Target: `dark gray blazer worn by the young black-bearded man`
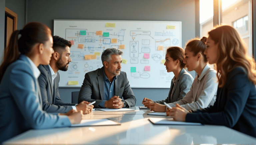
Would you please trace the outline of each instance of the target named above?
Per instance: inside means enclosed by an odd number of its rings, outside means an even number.
[[[38,77],[40,90],[42,94],[43,110],[48,113],[66,113],[73,109],[76,104],[62,102],[59,94],[60,76],[57,72],[57,77],[54,79],[52,86],[52,74],[48,65],[39,65],[38,69],[41,74]]]

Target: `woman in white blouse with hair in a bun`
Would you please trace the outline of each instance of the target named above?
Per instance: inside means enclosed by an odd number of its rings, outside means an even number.
[[[184,63],[188,71],[195,71],[198,75],[188,93],[181,100],[169,103],[171,107],[179,104],[187,110],[206,108],[214,104],[216,100],[218,82],[216,71],[208,65],[204,50],[206,49],[206,37],[201,40],[198,38],[187,42],[185,48]],[[155,112],[159,111],[152,103],[150,109]]]

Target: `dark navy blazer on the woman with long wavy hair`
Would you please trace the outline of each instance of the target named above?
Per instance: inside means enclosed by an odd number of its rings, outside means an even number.
[[[246,69],[234,68],[218,88],[214,105],[188,113],[186,122],[224,125],[256,137],[256,89]]]

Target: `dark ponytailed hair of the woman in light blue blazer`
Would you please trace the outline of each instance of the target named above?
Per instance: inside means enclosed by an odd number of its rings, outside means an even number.
[[[18,35],[21,37],[18,39]],[[48,41],[51,30],[48,26],[39,22],[30,22],[22,30],[12,33],[8,47],[5,49],[3,63],[0,66],[0,82],[7,67],[19,58],[20,54],[29,54],[36,43],[45,44]]]

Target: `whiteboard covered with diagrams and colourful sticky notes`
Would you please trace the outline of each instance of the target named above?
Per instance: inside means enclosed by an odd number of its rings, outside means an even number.
[[[121,71],[132,88],[170,88],[174,74],[163,63],[169,46],[181,47],[181,22],[55,19],[53,34],[72,42],[59,87],[81,87],[85,73],[103,66],[102,52],[115,47],[124,53]]]

